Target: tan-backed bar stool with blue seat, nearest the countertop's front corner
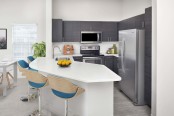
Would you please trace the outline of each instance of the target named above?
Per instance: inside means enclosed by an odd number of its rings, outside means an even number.
[[[82,94],[85,90],[64,78],[49,76],[48,82],[53,94],[65,99],[65,116],[68,116],[68,100]]]

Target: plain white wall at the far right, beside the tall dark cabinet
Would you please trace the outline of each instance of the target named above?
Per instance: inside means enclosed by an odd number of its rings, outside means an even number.
[[[153,11],[157,14],[157,20],[154,18],[154,22],[157,22],[154,28],[157,35],[153,38],[153,48],[157,53],[156,61],[153,60],[153,65],[156,64],[156,69],[153,69],[153,73],[156,73],[153,78],[156,78],[157,83],[156,116],[174,116],[174,1],[154,1],[157,3],[157,7],[154,5],[157,11]]]

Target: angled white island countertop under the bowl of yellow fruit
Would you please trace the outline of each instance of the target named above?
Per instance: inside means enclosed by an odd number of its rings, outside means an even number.
[[[73,60],[72,56],[69,56]],[[62,68],[49,58],[37,58],[30,67],[40,72],[85,83],[120,81],[121,77],[104,65],[73,61],[69,67]]]

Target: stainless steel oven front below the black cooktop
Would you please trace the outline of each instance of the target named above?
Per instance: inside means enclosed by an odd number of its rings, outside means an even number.
[[[83,62],[93,63],[93,64],[102,64],[103,63],[101,57],[83,57]]]

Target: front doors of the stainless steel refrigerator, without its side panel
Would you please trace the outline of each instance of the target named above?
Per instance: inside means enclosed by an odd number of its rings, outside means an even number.
[[[123,80],[120,82],[122,91],[134,102],[135,91],[135,68],[136,68],[136,30],[122,31],[119,33],[121,45],[121,62]],[[120,71],[120,70],[119,70]]]

